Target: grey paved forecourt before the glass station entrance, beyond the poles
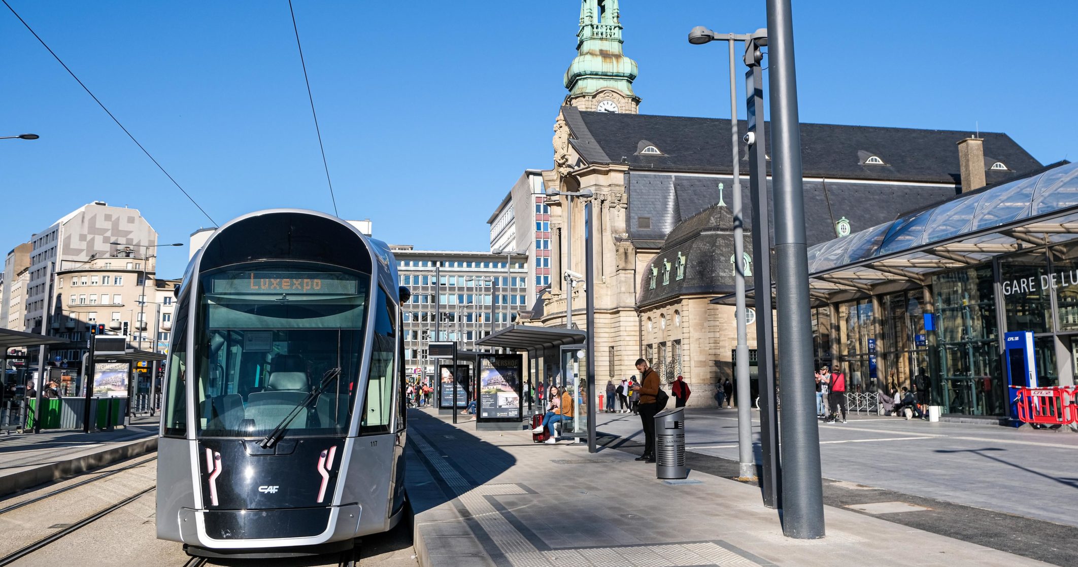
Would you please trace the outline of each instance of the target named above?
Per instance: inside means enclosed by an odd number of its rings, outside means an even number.
[[[736,410],[689,409],[686,415],[688,451],[737,459]],[[644,439],[633,414],[600,413],[596,426]],[[1076,507],[1059,506],[1078,489],[1078,434],[852,415],[846,424],[821,424],[819,439],[827,479],[1078,527]]]

